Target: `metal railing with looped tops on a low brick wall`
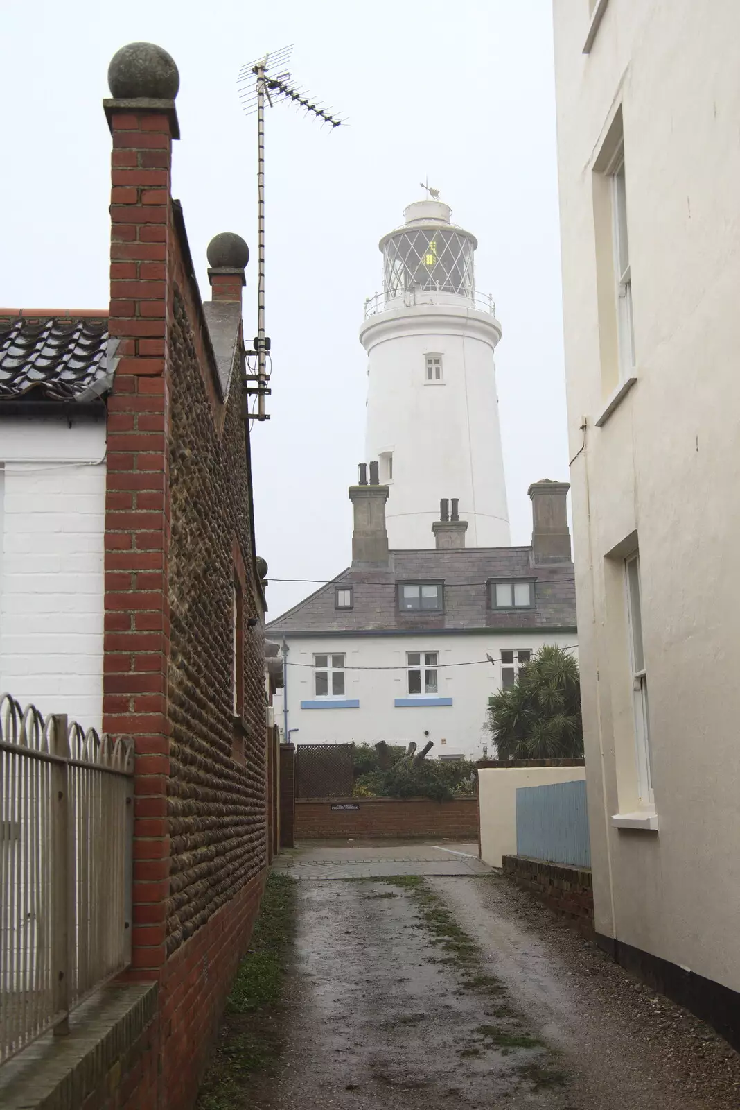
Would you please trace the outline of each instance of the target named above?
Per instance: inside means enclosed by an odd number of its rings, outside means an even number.
[[[134,747],[0,697],[0,1063],[131,962]]]

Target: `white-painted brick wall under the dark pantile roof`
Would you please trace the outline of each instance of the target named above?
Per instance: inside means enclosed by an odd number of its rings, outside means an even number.
[[[3,420],[0,689],[101,727],[105,424]],[[92,465],[91,465],[92,464]]]

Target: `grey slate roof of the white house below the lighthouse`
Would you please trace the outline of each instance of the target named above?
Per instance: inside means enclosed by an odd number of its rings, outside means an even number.
[[[533,608],[492,609],[489,582],[534,578]],[[397,584],[443,582],[444,609],[401,613]],[[337,609],[337,586],[351,585],[353,607]],[[316,635],[336,633],[403,633],[415,629],[465,632],[481,628],[575,629],[573,563],[535,565],[532,547],[465,547],[452,551],[394,551],[388,569],[348,567],[332,582],[267,625],[267,633]]]

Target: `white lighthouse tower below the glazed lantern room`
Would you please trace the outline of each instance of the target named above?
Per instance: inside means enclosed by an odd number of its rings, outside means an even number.
[[[434,546],[442,497],[460,500],[469,547],[511,543],[494,366],[500,331],[482,315],[424,305],[381,313],[362,330],[367,457],[393,454],[391,548]],[[440,382],[426,380],[428,354],[442,357]]]

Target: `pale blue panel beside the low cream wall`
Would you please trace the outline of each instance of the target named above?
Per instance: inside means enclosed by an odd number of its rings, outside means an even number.
[[[590,867],[585,779],[518,788],[516,855]]]

